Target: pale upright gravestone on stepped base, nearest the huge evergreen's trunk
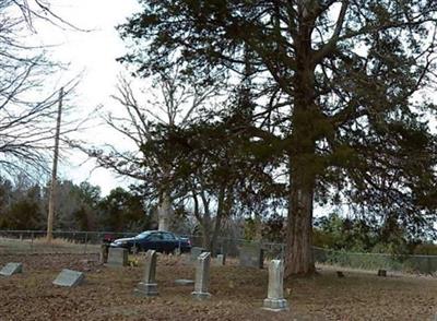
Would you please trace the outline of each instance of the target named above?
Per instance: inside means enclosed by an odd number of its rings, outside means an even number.
[[[272,260],[269,264],[269,288],[263,309],[269,311],[286,311],[288,302],[284,299],[284,263]]]

